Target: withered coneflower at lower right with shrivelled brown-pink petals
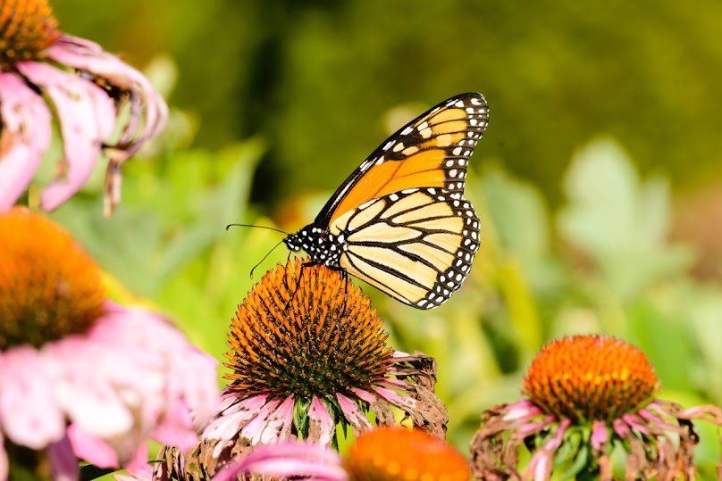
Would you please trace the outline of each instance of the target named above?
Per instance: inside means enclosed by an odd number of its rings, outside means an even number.
[[[524,379],[525,400],[485,411],[472,441],[477,479],[611,481],[693,479],[693,419],[722,425],[714,406],[689,410],[655,399],[659,380],[642,351],[606,336],[547,344]],[[531,459],[520,469],[519,452]]]

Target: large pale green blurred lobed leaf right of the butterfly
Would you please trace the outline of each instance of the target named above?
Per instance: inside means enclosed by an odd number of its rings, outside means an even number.
[[[615,141],[600,138],[576,153],[565,191],[560,234],[592,258],[617,294],[629,297],[691,265],[688,246],[667,245],[667,181],[642,182]]]

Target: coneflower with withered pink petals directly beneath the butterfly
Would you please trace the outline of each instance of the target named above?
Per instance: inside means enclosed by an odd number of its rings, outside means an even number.
[[[166,450],[157,478],[212,476],[256,444],[298,438],[335,445],[338,424],[356,435],[372,427],[369,410],[378,425],[393,424],[396,407],[409,424],[445,435],[435,361],[390,349],[369,299],[339,272],[301,270],[298,260],[279,265],[239,305],[226,354],[232,382],[197,449]]]

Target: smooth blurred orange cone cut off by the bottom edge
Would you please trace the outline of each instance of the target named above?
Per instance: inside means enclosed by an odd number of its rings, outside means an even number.
[[[350,481],[466,481],[469,467],[449,444],[419,429],[379,427],[358,437],[344,461]]]

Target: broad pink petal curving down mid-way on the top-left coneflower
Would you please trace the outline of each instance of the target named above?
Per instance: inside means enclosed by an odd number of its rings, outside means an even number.
[[[41,195],[43,209],[52,211],[88,181],[101,147],[115,127],[115,107],[105,91],[76,75],[46,63],[19,62],[17,69],[52,99],[60,119],[67,171]]]

